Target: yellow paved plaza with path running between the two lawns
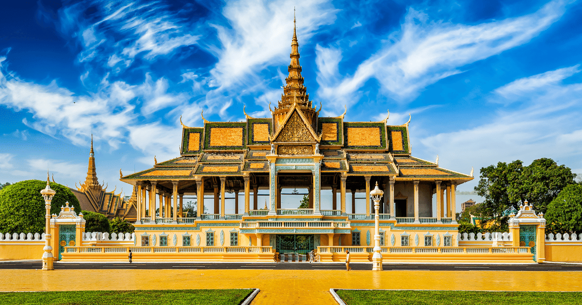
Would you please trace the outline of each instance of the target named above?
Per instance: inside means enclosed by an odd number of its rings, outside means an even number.
[[[0,290],[260,288],[253,304],[336,304],[329,288],[582,291],[582,272],[0,270]]]

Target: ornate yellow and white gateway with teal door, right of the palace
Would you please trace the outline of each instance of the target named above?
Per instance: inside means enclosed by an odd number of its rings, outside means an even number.
[[[544,213],[536,214],[533,204],[520,204],[519,211],[509,216],[509,232],[514,247],[530,247],[534,261],[545,261],[545,218]]]

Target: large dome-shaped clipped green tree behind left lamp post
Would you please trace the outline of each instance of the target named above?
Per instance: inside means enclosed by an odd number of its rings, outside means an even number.
[[[26,180],[3,186],[0,192],[0,232],[42,233],[45,227],[45,203],[40,191],[47,181]],[[51,202],[51,214],[59,214],[61,206],[69,206],[79,213],[81,206],[73,192],[64,185],[50,182],[56,192]]]

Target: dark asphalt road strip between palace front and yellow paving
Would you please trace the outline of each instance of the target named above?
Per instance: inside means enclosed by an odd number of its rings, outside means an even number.
[[[38,269],[40,261],[6,261],[0,262],[0,269]],[[371,263],[352,263],[353,270],[371,270]],[[120,269],[263,269],[263,270],[345,270],[345,264],[339,263],[59,263],[55,270],[120,270]],[[503,271],[582,271],[582,264],[531,264],[531,265],[485,265],[485,264],[384,264],[384,270],[427,270],[427,271],[467,271],[467,270],[503,270]]]

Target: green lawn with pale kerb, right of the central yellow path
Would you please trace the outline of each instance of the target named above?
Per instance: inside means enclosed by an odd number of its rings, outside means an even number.
[[[526,283],[524,283],[527,286]],[[488,292],[444,290],[338,290],[347,305],[470,304],[531,305],[580,304],[582,292]]]

